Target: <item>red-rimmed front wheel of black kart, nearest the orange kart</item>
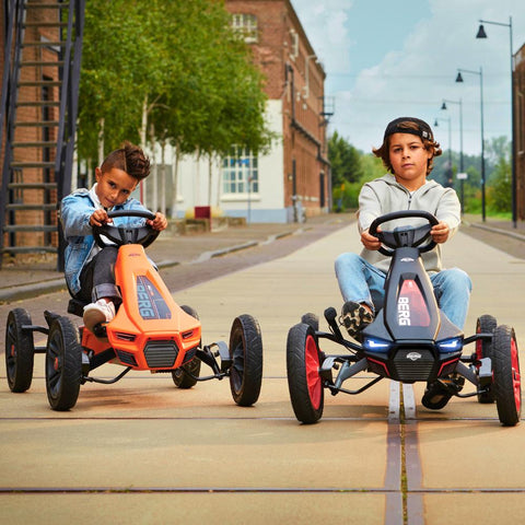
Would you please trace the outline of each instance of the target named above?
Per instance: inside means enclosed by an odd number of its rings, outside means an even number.
[[[315,332],[304,323],[288,332],[287,373],[295,417],[303,423],[315,423],[323,416],[325,392]]]

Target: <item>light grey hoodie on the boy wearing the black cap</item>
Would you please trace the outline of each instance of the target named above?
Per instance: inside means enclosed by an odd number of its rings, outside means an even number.
[[[410,194],[405,186],[396,182],[394,175],[386,174],[364,184],[361,188],[358,211],[359,232],[362,233],[368,230],[375,218],[400,210],[424,210],[432,213],[439,221],[448,224],[451,229],[448,238],[456,233],[462,221],[462,207],[454,189],[444,188],[435,180],[427,180],[423,186]],[[386,222],[381,228],[385,231],[392,231],[395,226],[401,224],[420,225],[424,223],[424,219],[407,219]],[[361,252],[361,257],[385,272],[388,270],[390,257],[366,248]],[[424,268],[429,273],[443,269],[440,244],[434,249],[423,254],[422,258]]]

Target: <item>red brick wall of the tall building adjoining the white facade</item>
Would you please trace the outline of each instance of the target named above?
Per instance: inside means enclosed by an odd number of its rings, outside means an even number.
[[[226,0],[225,5],[231,13],[257,16],[259,34],[257,43],[252,44],[254,57],[267,78],[269,98],[283,102],[284,206],[290,207],[293,202],[291,175],[295,161],[296,195],[307,214],[320,213],[320,172],[325,172],[325,206],[329,194],[329,173],[318,160],[319,153],[322,158],[327,158],[326,127],[320,125],[325,72],[312,57],[315,51],[289,0]],[[292,55],[293,33],[299,39],[296,56]],[[293,74],[287,74],[287,65],[292,68]],[[307,97],[304,96],[306,77],[310,88]],[[305,132],[292,126],[293,121]],[[316,142],[320,143],[320,150]]]

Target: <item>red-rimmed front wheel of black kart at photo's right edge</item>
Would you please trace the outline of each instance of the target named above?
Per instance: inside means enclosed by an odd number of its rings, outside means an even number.
[[[520,358],[514,329],[498,326],[493,339],[494,397],[502,424],[514,427],[522,413]]]

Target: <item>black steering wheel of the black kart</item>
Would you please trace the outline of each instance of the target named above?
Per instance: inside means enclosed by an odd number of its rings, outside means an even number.
[[[384,222],[394,221],[395,219],[409,219],[412,217],[419,217],[421,219],[427,219],[428,224],[422,226],[399,226],[394,229],[394,231],[377,231],[377,228]],[[388,246],[388,249],[385,246],[380,247],[380,253],[392,257],[394,255],[395,248],[400,247],[419,247],[424,241],[430,237],[430,231],[432,226],[439,224],[440,221],[428,211],[422,210],[402,210],[402,211],[393,211],[392,213],[386,213],[385,215],[377,217],[372,224],[370,225],[369,233],[377,237],[382,244]],[[435,246],[435,241],[431,240],[430,243],[419,248],[420,253],[430,252]]]

